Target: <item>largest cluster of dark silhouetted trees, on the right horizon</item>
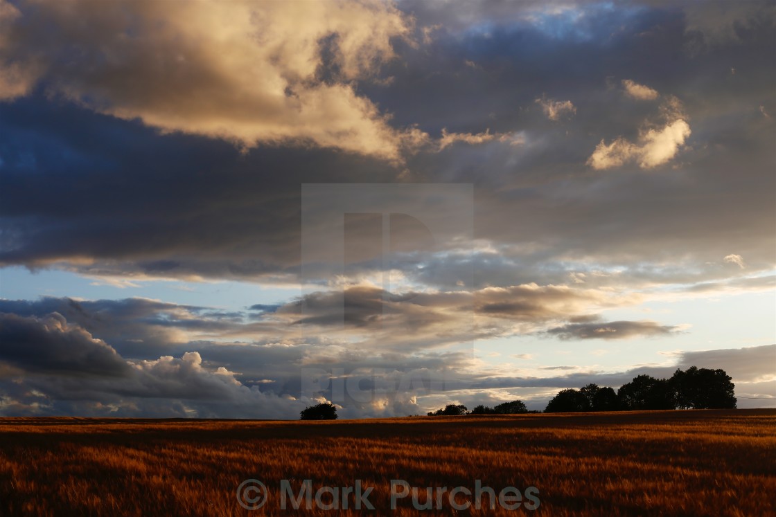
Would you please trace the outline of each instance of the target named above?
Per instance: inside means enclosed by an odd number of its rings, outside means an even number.
[[[639,375],[618,391],[598,384],[558,392],[545,412],[633,411],[639,409],[736,408],[735,384],[724,370],[677,369],[670,379]]]

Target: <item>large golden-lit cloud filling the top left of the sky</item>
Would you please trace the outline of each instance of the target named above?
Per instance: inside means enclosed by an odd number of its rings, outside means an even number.
[[[95,111],[246,148],[291,141],[398,160],[425,140],[354,88],[410,35],[386,2],[4,1],[0,26],[0,98],[39,75]]]

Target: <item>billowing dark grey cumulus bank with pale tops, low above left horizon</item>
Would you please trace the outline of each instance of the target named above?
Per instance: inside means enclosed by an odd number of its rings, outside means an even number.
[[[295,418],[308,402],[249,388],[198,352],[124,360],[57,313],[0,314],[0,393],[0,415]]]

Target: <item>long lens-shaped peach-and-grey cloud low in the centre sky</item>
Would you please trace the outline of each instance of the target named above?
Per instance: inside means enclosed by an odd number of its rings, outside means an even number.
[[[473,291],[383,291],[356,285],[318,291],[279,308],[274,316],[328,335],[360,335],[379,347],[424,350],[473,338],[531,333],[597,308],[636,302],[637,295],[565,285],[521,284]]]

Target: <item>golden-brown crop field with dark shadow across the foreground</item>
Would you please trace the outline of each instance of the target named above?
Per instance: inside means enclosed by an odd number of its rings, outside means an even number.
[[[265,505],[237,488],[262,481]],[[372,487],[376,508],[280,508],[299,495]],[[390,509],[391,480],[417,487]],[[449,493],[476,480],[522,505],[480,509]],[[479,485],[477,485],[479,486]],[[539,507],[525,490],[535,487]],[[400,488],[396,488],[397,491]],[[255,492],[251,493],[256,495]],[[695,410],[411,417],[330,422],[0,419],[0,515],[776,515],[776,411]],[[341,492],[338,499],[342,504]],[[497,499],[497,497],[496,497]],[[255,499],[254,499],[255,500]],[[320,501],[333,505],[331,493]],[[512,499],[514,501],[514,499]],[[498,501],[495,501],[498,502]],[[290,504],[290,503],[289,503]]]

